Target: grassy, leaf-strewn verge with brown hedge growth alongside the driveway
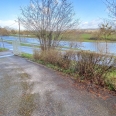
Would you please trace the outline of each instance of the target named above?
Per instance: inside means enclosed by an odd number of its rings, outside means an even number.
[[[88,54],[88,53],[87,53]],[[82,56],[87,56],[87,54],[84,53]],[[34,55],[31,54],[25,54],[23,53],[21,56],[24,58],[28,58],[34,62],[43,64],[49,68],[52,68],[54,70],[63,72],[64,74],[70,75],[72,79],[78,81],[78,82],[86,82],[89,81],[91,85],[99,85],[105,88],[108,88],[110,90],[116,91],[116,69],[111,68],[110,66],[106,65],[98,65],[97,63],[101,62],[104,64],[103,57],[89,54],[86,58],[83,60],[80,60],[79,62],[74,62],[69,60],[72,56],[70,56],[69,53],[65,54],[67,56],[61,56],[59,52],[51,51],[49,53],[42,53]],[[71,55],[73,55],[71,53]],[[78,54],[80,56],[80,54]],[[92,59],[97,59],[100,61],[93,62]],[[107,58],[106,58],[107,59]],[[92,63],[93,62],[93,63]],[[104,72],[107,70],[106,72]]]

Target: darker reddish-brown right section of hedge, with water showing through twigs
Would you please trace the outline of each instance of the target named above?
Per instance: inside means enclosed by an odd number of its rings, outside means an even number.
[[[115,64],[113,56],[80,51],[76,53],[76,57],[75,70],[80,79],[87,79],[98,85],[105,84],[105,77],[113,70]]]

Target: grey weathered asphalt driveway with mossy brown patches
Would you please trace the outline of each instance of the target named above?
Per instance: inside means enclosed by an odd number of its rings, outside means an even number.
[[[116,116],[107,100],[77,90],[57,72],[18,56],[0,58],[0,116]]]

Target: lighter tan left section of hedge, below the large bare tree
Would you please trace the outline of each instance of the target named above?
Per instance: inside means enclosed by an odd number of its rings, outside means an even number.
[[[34,50],[34,59],[42,60],[46,63],[51,63],[54,66],[58,66],[62,69],[68,69],[71,63],[72,52],[61,52],[59,50],[46,50],[46,51],[37,51]]]

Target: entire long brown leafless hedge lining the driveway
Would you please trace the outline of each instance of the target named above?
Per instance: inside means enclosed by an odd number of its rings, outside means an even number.
[[[106,81],[108,74],[115,70],[116,59],[111,55],[74,50],[61,52],[50,49],[41,52],[35,50],[34,58],[59,67],[63,72],[74,74],[79,80],[89,80],[101,86],[110,83],[108,85],[112,88],[112,80]]]

